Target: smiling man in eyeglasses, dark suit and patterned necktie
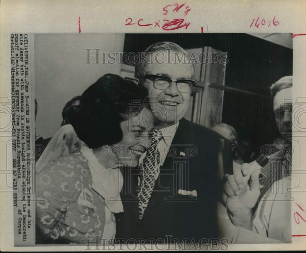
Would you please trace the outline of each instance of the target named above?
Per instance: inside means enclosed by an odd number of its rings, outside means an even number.
[[[186,51],[159,42],[145,55],[135,76],[148,90],[155,133],[138,169],[122,171],[124,212],[117,216],[116,238],[153,240],[148,243],[217,238],[222,137],[184,118],[194,83],[192,64],[178,62]],[[229,148],[228,141],[222,144]]]

